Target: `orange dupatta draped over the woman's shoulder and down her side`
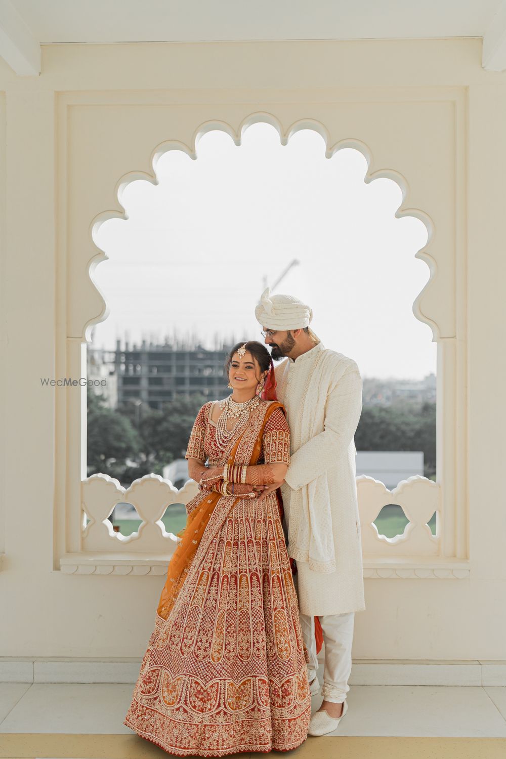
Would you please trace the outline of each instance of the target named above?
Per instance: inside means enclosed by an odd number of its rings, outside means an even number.
[[[284,409],[284,406],[279,402],[274,402],[271,403],[269,408],[266,409],[266,414],[262,420],[262,427],[256,437],[256,442],[250,458],[249,466],[256,465],[256,462],[259,460],[260,452],[262,451],[263,430],[266,426],[267,420],[276,408]],[[228,464],[235,463],[235,455],[237,453],[237,449],[246,432],[247,429],[244,430],[235,441],[234,447],[228,456]],[[181,587],[183,587],[188,572],[190,572],[190,567],[193,564],[193,559],[195,559],[196,552],[200,546],[200,541],[203,539],[207,524],[209,523],[209,519],[212,516],[212,512],[214,511],[219,499],[225,497],[226,496],[222,496],[221,493],[215,493],[213,490],[210,491],[207,498],[204,499],[203,502],[198,506],[196,506],[196,509],[194,509],[193,512],[191,512],[191,514],[188,516],[186,527],[179,533],[179,537],[181,537],[181,543],[179,543],[177,549],[174,552],[174,556],[172,556],[171,561],[168,565],[167,580],[165,581],[162,595],[160,596],[159,605],[156,609],[158,616],[162,617],[162,619],[167,619],[168,615],[171,613],[174,602],[181,591]],[[234,499],[234,502],[231,503],[231,509],[238,500],[239,498]]]

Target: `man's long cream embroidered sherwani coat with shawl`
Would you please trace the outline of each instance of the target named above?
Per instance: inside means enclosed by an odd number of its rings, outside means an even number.
[[[354,433],[362,410],[357,364],[322,343],[275,370],[291,428],[281,487],[288,554],[297,561],[300,612],[365,608]]]

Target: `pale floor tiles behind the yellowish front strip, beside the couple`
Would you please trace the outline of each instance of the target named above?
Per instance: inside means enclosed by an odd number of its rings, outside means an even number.
[[[123,718],[133,688],[3,683],[0,732],[131,734]],[[506,687],[354,685],[347,700],[335,735],[506,738]]]

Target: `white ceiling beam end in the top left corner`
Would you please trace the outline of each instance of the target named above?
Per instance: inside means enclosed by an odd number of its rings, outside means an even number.
[[[20,77],[40,74],[40,45],[10,0],[0,0],[0,55]]]

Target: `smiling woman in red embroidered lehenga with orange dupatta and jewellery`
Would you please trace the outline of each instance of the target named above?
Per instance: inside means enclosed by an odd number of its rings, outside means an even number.
[[[231,395],[200,409],[188,472],[200,493],[167,581],[124,724],[169,754],[289,751],[311,696],[275,486],[290,430],[259,342],[226,364]],[[207,461],[207,465],[206,465]]]

